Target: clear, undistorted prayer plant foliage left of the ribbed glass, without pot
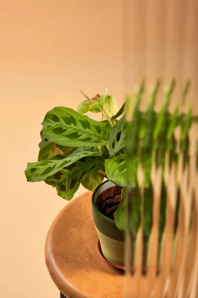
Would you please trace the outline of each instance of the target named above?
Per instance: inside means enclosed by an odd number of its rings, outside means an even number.
[[[114,117],[119,112],[115,97],[107,95],[107,90],[92,98],[81,92],[87,99],[78,105],[77,111],[55,107],[46,114],[38,161],[29,162],[25,170],[28,181],[45,181],[66,200],[72,199],[80,183],[94,190],[108,177],[108,172],[111,175],[111,164],[105,164],[109,151],[111,157],[119,157],[125,147],[124,118],[118,121]],[[101,121],[90,119],[84,115],[87,112],[101,113]],[[116,160],[112,162],[116,166]],[[124,183],[125,160],[122,164],[120,177],[112,179],[120,186]]]

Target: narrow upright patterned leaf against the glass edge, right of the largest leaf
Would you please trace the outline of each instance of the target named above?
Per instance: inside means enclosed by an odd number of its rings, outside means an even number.
[[[115,155],[126,146],[126,121],[123,116],[113,127],[109,138],[109,155]]]

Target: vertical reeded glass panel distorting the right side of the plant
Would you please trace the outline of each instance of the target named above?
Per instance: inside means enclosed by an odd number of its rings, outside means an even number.
[[[125,297],[196,298],[198,1],[123,1],[123,29]]]

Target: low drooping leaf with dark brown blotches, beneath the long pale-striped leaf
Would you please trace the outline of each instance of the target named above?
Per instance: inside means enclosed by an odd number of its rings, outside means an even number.
[[[54,186],[57,194],[69,201],[79,188],[82,179],[96,173],[102,162],[100,157],[83,157],[49,176],[45,182]]]

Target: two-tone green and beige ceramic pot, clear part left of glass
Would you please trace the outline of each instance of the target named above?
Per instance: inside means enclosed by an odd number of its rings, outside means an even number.
[[[99,195],[114,186],[113,182],[107,180],[101,183],[92,195],[92,212],[94,224],[99,236],[103,256],[110,263],[123,266],[124,264],[124,233],[116,226],[115,221],[103,215],[96,206]]]

